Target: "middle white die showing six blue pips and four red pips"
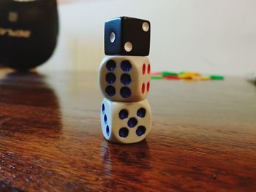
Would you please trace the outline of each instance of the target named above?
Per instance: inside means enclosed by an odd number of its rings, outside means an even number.
[[[112,101],[142,101],[148,96],[151,65],[140,56],[105,56],[99,66],[99,88]]]

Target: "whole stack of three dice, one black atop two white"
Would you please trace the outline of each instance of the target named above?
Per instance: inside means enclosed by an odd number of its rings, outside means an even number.
[[[119,17],[105,23],[105,58],[99,66],[102,133],[110,142],[135,143],[151,131],[146,97],[151,82],[148,20]]]

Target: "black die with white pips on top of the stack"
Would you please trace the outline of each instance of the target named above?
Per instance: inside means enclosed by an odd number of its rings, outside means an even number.
[[[105,55],[147,56],[151,26],[148,20],[119,17],[105,23]]]

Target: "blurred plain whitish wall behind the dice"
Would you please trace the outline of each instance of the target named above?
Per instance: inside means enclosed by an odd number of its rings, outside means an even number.
[[[154,71],[256,71],[255,0],[97,0],[61,5],[59,13],[59,46],[41,69],[97,70],[105,20],[125,15],[151,21]]]

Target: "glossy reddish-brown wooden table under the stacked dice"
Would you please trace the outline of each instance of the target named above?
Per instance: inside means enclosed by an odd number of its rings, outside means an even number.
[[[101,133],[97,73],[0,72],[0,191],[256,191],[256,87],[154,80],[151,134]]]

